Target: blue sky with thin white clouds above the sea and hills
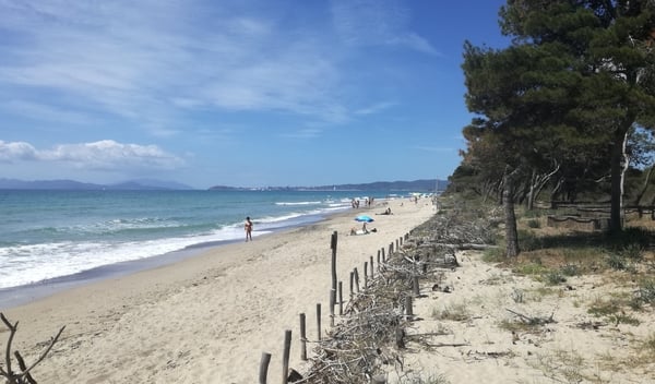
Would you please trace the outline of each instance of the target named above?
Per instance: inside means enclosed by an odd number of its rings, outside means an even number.
[[[0,178],[445,179],[503,3],[0,0]]]

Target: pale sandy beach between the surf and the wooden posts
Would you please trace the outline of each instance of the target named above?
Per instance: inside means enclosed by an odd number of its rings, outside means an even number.
[[[347,287],[354,267],[434,214],[427,199],[389,206],[393,215],[376,215],[386,208],[379,202],[264,237],[257,237],[255,224],[252,242],[4,310],[20,321],[14,349],[29,363],[66,325],[32,372],[40,383],[252,384],[264,351],[272,355],[269,382],[279,382],[286,329],[293,332],[290,367],[302,370],[299,313],[307,314],[309,339],[318,336],[317,303],[322,328],[330,326],[331,235],[338,233],[337,275]],[[362,213],[378,231],[348,236]],[[8,335],[0,332],[2,350]]]

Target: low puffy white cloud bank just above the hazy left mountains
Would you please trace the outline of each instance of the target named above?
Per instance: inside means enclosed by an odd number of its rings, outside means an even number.
[[[0,141],[0,161],[45,161],[68,164],[87,170],[176,169],[184,160],[156,145],[122,144],[112,140],[94,143],[60,144],[52,149],[38,151],[24,142]]]

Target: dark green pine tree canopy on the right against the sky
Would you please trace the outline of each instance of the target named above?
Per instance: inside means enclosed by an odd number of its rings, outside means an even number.
[[[620,230],[630,135],[655,127],[655,1],[508,0],[499,16],[509,47],[464,44],[462,166],[512,200],[608,180]]]

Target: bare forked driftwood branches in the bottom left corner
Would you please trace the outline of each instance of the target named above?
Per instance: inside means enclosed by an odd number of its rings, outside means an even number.
[[[14,358],[19,363],[19,369],[14,370],[14,368],[12,368],[13,361],[11,355],[13,338],[19,329],[19,322],[12,324],[1,312],[0,320],[2,320],[2,323],[4,323],[4,325],[9,328],[9,339],[7,340],[7,347],[4,350],[4,365],[0,364],[0,377],[4,377],[7,380],[7,384],[36,384],[36,381],[34,380],[34,377],[32,377],[31,371],[46,359],[46,357],[55,346],[55,343],[59,340],[59,337],[61,336],[61,333],[63,332],[66,326],[62,326],[59,329],[57,335],[55,335],[55,337],[50,339],[50,343],[48,344],[46,349],[31,365],[27,365],[25,363],[25,360],[17,350],[14,351]]]

